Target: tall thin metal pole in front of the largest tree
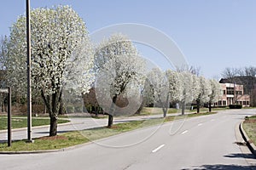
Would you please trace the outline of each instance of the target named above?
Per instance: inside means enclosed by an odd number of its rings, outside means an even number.
[[[27,142],[32,142],[30,0],[26,0],[26,57],[27,57]]]

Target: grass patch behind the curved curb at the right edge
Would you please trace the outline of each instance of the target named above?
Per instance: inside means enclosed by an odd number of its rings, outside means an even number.
[[[243,123],[243,129],[247,133],[247,136],[256,145],[256,116],[251,116]]]

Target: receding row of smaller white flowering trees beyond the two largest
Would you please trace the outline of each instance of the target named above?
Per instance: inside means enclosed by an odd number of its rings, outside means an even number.
[[[170,103],[181,104],[183,115],[185,106],[193,101],[196,102],[198,113],[201,105],[206,103],[209,111],[212,111],[212,103],[221,98],[222,88],[216,80],[198,77],[188,69],[160,71],[155,68],[148,73],[143,95],[148,103],[158,103],[164,116]]]

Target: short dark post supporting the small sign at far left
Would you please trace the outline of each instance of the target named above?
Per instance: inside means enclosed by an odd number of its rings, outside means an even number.
[[[11,146],[12,143],[12,119],[11,119],[11,105],[12,105],[12,98],[11,98],[11,88],[8,88],[8,146]]]

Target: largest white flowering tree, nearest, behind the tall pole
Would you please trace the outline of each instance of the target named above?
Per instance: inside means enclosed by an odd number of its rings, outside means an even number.
[[[49,135],[57,133],[62,89],[85,93],[90,88],[93,51],[84,21],[68,6],[31,11],[32,88],[49,111]],[[19,92],[26,87],[26,17],[11,27],[8,59],[9,83]]]

